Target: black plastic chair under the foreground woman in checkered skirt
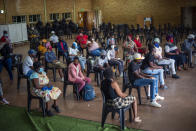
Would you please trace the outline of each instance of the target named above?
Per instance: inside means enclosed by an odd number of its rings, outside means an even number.
[[[104,88],[104,87],[103,87]],[[101,88],[102,89],[102,88]],[[102,98],[103,98],[103,107],[102,107],[102,120],[101,120],[101,127],[104,127],[105,120],[107,118],[107,115],[112,112],[112,119],[114,119],[115,113],[119,113],[120,116],[120,129],[124,130],[125,128],[125,111],[129,110],[129,122],[132,121],[132,112],[131,112],[131,105],[117,109],[113,106],[107,105],[106,97],[103,91],[101,90]]]

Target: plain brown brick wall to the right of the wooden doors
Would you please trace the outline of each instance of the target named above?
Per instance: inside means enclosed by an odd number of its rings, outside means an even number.
[[[104,22],[129,25],[147,16],[155,25],[179,24],[184,6],[196,6],[196,0],[93,0],[93,9],[102,11]]]

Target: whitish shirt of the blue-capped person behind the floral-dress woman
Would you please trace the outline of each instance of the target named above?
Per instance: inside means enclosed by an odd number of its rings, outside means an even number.
[[[23,74],[27,75],[27,73],[31,70],[30,66],[33,66],[33,60],[30,56],[26,56],[23,62]]]

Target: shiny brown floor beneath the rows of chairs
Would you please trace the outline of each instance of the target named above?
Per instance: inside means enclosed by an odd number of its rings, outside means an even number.
[[[17,47],[14,52],[26,54],[28,46]],[[126,126],[131,128],[138,128],[153,131],[195,131],[196,130],[196,68],[188,71],[178,72],[181,79],[174,80],[167,77],[166,83],[168,90],[159,90],[159,94],[166,99],[162,102],[162,108],[153,108],[148,105],[144,91],[142,90],[143,105],[138,105],[138,114],[141,116],[143,122],[141,124],[129,123],[126,121]],[[49,78],[52,81],[52,74],[49,71]],[[3,70],[1,78],[4,83],[4,95],[11,102],[11,105],[27,107],[27,91],[26,81],[21,81],[20,91],[16,89],[16,70],[14,70],[14,84],[10,85],[7,72]],[[57,77],[59,77],[57,75]],[[91,75],[93,79],[94,76]],[[58,79],[58,81],[60,81]],[[122,79],[118,80],[122,85]],[[63,89],[61,82],[56,82],[54,85]],[[99,87],[96,87],[95,82],[93,86],[96,91],[96,98],[90,102],[76,101],[72,93],[72,87],[69,86],[65,99],[61,96],[59,98],[59,106],[61,115],[71,116],[81,119],[93,120],[101,122],[102,112],[102,97]],[[137,92],[133,90],[133,95],[137,96]],[[33,101],[32,108],[38,108],[38,102]],[[126,114],[126,119],[128,115]],[[119,125],[119,120],[111,120],[108,116],[107,123]]]

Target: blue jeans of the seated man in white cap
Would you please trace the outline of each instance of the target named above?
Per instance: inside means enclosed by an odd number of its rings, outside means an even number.
[[[158,78],[156,75],[155,79],[137,79],[134,81],[133,85],[136,87],[147,86],[150,85],[150,100],[153,101],[155,99],[155,95],[158,94]]]

